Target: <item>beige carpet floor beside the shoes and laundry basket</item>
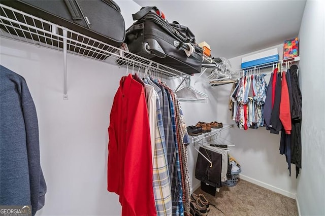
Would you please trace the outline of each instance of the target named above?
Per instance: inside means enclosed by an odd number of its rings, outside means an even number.
[[[283,196],[268,189],[239,179],[234,187],[221,187],[213,197],[200,188],[194,192],[202,193],[209,202],[224,212],[211,206],[209,216],[218,215],[299,215],[295,199]]]

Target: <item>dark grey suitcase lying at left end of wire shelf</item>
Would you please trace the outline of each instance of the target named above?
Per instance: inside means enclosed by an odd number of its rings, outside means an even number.
[[[1,0],[1,4],[42,18],[54,24],[67,27],[115,47],[119,47],[125,39],[124,19],[120,13],[120,8],[112,0]],[[42,26],[42,23],[38,22],[34,24],[31,19],[27,19],[25,22],[22,16],[15,17],[15,15],[8,10],[1,11],[1,14],[6,14],[10,18],[50,30],[47,29],[49,26]],[[56,43],[55,41],[53,42],[53,40],[51,42],[46,39],[46,37],[38,38],[34,33],[26,33],[25,31],[22,32],[13,28],[6,28],[4,25],[2,25],[2,29],[12,34],[18,34],[20,37],[26,37],[37,41],[41,40],[43,43]],[[71,35],[68,35],[68,38],[69,37],[71,37]],[[77,37],[72,39],[80,40]],[[87,43],[87,41],[83,41],[82,43]],[[62,48],[62,43],[53,45]],[[93,46],[96,46],[96,44]],[[101,48],[107,50],[107,47]],[[92,57],[96,56],[96,58],[105,58],[103,56],[98,57],[98,55],[95,55],[95,53],[91,51],[89,52],[86,50],[86,52],[84,52],[85,50],[82,48],[76,51],[74,47],[71,47],[71,51],[83,53],[84,55]],[[112,51],[112,49],[110,51]]]

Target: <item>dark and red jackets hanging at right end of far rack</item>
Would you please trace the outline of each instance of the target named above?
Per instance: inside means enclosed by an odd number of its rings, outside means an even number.
[[[296,177],[301,168],[301,92],[299,88],[298,66],[291,65],[287,71],[271,75],[265,105],[266,128],[271,133],[281,131],[280,154],[286,156],[289,175],[291,163],[296,165]],[[295,109],[294,109],[295,107]]]

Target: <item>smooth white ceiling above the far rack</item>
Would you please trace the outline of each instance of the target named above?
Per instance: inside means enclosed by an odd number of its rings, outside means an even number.
[[[198,43],[206,41],[212,56],[226,58],[297,37],[306,4],[306,0],[134,2],[158,7],[169,22],[188,26]]]

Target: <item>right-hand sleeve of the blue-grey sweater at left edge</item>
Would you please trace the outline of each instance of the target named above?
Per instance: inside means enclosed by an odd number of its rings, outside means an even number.
[[[31,213],[44,206],[46,183],[40,163],[39,127],[36,107],[25,80],[21,83],[22,111],[26,128],[26,147],[29,170]]]

